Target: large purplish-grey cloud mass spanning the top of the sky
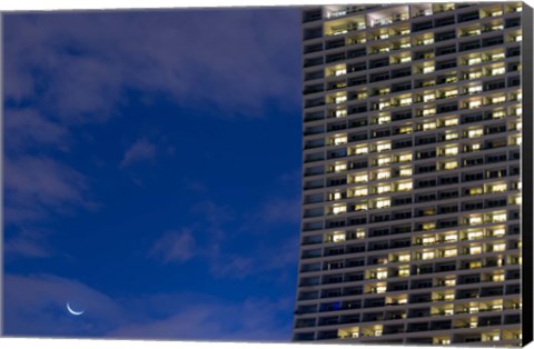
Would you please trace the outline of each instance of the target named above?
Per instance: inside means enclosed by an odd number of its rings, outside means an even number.
[[[6,99],[69,123],[107,120],[129,90],[208,116],[298,109],[298,26],[297,9],[9,14]]]

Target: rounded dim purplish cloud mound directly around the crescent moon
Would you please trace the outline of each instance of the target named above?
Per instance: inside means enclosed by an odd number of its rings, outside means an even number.
[[[100,337],[126,321],[108,296],[79,281],[51,275],[4,276],[4,335]],[[85,309],[72,318],[66,303]]]

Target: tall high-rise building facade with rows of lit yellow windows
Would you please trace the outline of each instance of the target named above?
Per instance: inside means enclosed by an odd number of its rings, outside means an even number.
[[[522,345],[525,12],[303,10],[294,340]]]

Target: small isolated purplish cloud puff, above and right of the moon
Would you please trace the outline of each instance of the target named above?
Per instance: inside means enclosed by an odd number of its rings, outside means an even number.
[[[165,263],[185,262],[196,253],[196,241],[191,230],[168,231],[164,233],[152,246],[149,256],[160,258]]]

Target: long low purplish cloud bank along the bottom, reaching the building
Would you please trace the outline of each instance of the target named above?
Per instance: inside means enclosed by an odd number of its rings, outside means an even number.
[[[4,292],[7,336],[288,341],[291,330],[289,299],[228,301],[187,292],[111,298],[52,275],[7,275]],[[86,312],[70,316],[67,301]]]

